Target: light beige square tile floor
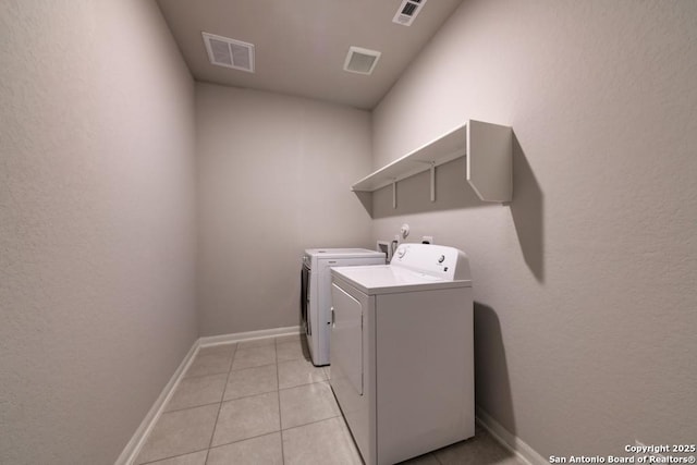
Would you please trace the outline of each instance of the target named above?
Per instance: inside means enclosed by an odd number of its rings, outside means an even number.
[[[135,464],[360,465],[328,382],[299,335],[204,347],[181,380]],[[477,428],[475,438],[412,465],[517,465]]]

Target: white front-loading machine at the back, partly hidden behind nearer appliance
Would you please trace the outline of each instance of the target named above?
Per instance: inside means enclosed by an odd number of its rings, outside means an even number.
[[[331,267],[384,265],[384,254],[367,248],[308,248],[303,255],[302,331],[316,366],[329,365]]]

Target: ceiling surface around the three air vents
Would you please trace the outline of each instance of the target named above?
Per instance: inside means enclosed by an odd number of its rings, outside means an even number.
[[[372,109],[462,0],[430,0],[411,26],[401,0],[158,0],[194,78]],[[201,32],[255,45],[254,74],[210,64]],[[343,71],[350,46],[382,52]]]

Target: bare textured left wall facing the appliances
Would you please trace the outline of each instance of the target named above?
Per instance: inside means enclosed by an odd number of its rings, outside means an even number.
[[[0,63],[0,463],[113,463],[197,336],[193,81],[140,0],[2,1]]]

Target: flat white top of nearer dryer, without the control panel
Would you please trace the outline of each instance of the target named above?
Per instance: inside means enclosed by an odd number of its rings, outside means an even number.
[[[332,277],[343,280],[365,294],[472,287],[472,280],[449,280],[392,265],[334,267]]]

